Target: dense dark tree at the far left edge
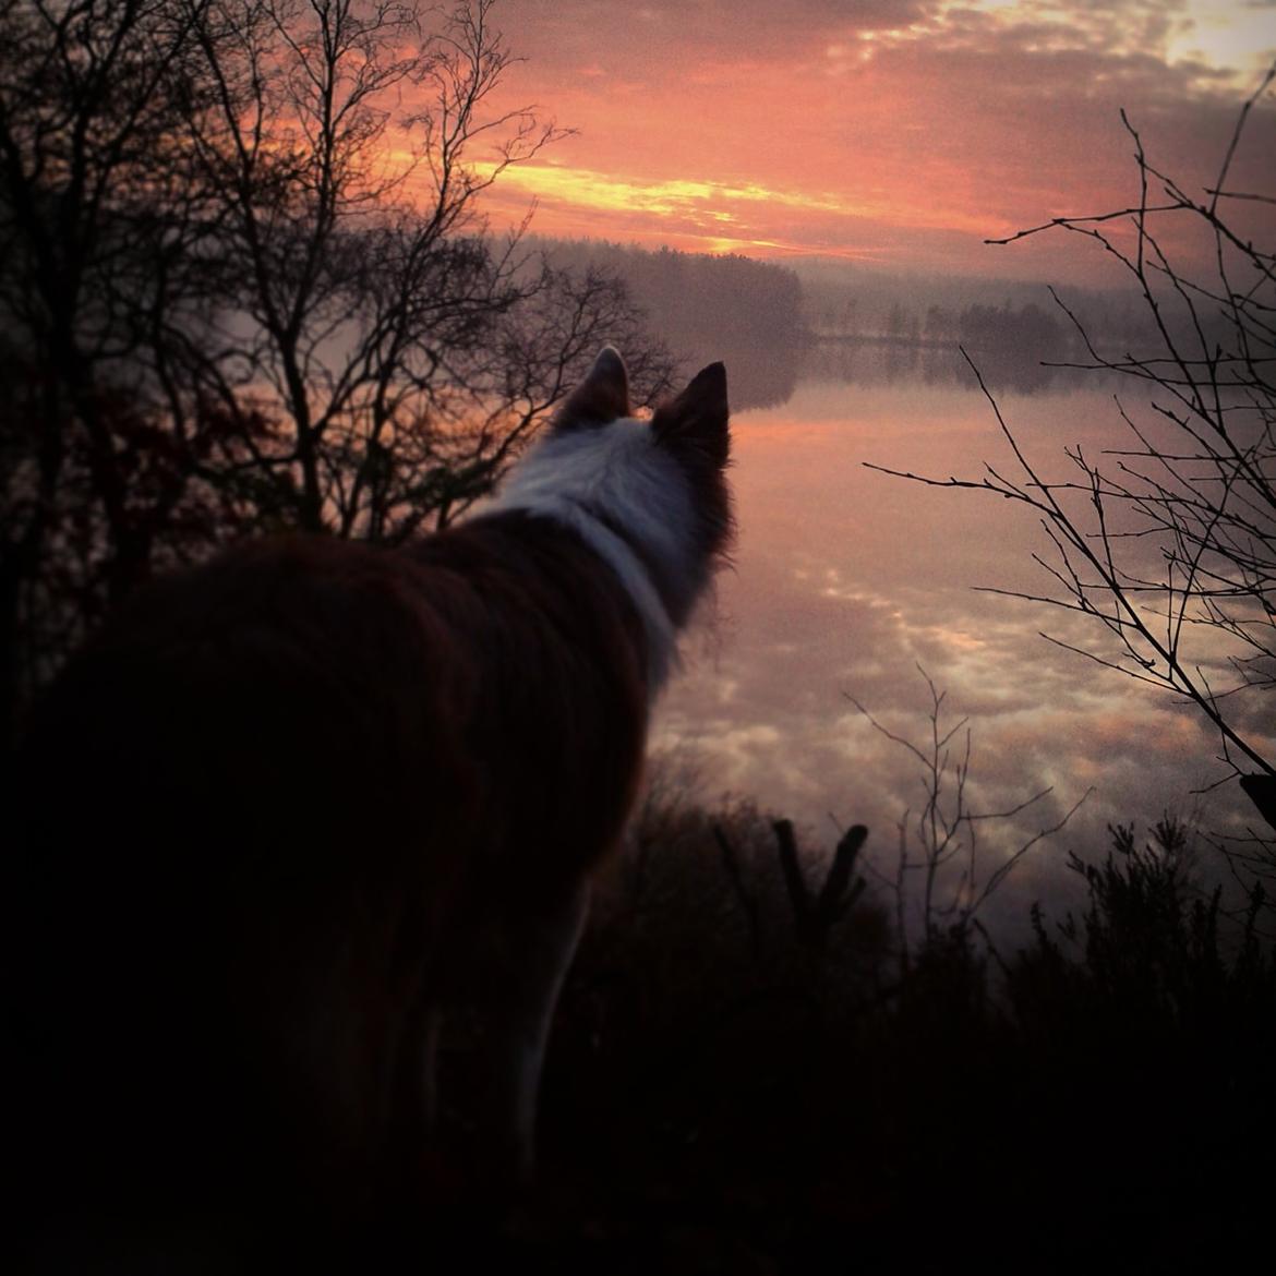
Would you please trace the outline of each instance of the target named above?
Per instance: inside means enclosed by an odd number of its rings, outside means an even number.
[[[207,513],[208,435],[181,422],[154,447],[147,375],[203,234],[174,131],[193,22],[168,0],[0,0],[4,720],[144,575],[160,530]]]

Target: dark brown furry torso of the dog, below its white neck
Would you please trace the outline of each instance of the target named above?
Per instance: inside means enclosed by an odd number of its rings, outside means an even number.
[[[174,1139],[234,1161],[300,1139],[319,1145],[306,1175],[364,1175],[415,1003],[468,960],[452,931],[553,898],[619,836],[639,632],[602,563],[513,514],[406,554],[251,544],[139,597],[24,758],[75,1123],[154,1139],[143,1161]],[[227,1021],[242,1040],[213,1040]],[[242,1128],[245,1095],[265,1128]]]

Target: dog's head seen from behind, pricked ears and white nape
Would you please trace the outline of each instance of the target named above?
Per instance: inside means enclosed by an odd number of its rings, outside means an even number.
[[[624,360],[607,346],[498,505],[601,526],[641,561],[680,628],[731,541],[727,417],[721,364],[649,419],[632,416]]]

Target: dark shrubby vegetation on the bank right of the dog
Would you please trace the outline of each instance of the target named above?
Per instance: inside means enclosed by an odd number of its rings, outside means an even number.
[[[795,909],[785,835],[749,806],[648,809],[560,1008],[512,1261],[1221,1272],[1270,1254],[1261,893],[1229,919],[1193,888],[1183,828],[1118,828],[1071,857],[1085,907],[1035,910],[1025,948],[935,926],[901,960],[845,861],[840,909]],[[806,863],[814,905],[822,872]]]

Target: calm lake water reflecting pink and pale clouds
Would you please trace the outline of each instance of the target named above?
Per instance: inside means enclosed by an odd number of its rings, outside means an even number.
[[[1110,387],[1021,385],[998,401],[1053,476],[1067,466],[1064,444],[1097,453],[1120,438]],[[976,477],[985,459],[1009,464],[988,402],[956,364],[826,356],[786,402],[736,411],[732,429],[735,567],[713,621],[688,644],[656,736],[694,766],[706,796],[753,796],[808,826],[812,843],[831,843],[835,824],[865,823],[879,861],[893,864],[897,824],[924,801],[920,768],[846,697],[924,744],[920,665],[947,693],[943,721],[970,720],[970,809],[1008,810],[1053,790],[1014,819],[981,824],[988,866],[1092,790],[994,911],[1069,894],[1067,850],[1101,854],[1109,823],[1146,826],[1169,810],[1207,829],[1254,824],[1235,783],[1192,792],[1224,768],[1191,711],[1039,635],[1095,646],[1099,633],[1057,609],[976,592],[1048,592],[1031,554],[1049,545],[1031,512],[864,468]]]

